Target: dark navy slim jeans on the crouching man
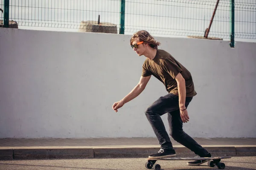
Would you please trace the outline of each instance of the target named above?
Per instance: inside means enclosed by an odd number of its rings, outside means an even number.
[[[192,97],[186,97],[186,108],[191,100]],[[168,113],[170,136],[195,154],[201,157],[206,156],[208,153],[207,150],[183,131],[183,122],[180,118],[179,96],[171,93],[166,96],[161,96],[145,111],[145,115],[157,136],[161,148],[173,149],[172,142],[160,117],[165,113]]]

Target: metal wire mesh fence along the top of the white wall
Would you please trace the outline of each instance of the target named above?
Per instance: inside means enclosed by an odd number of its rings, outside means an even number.
[[[0,8],[4,9],[5,1],[0,1]],[[234,2],[235,37],[256,39],[256,1]],[[91,25],[98,25],[116,28],[117,34],[120,28],[125,34],[144,29],[166,37],[204,37],[210,28],[208,37],[230,39],[231,4],[232,0],[10,0],[9,20],[16,21],[19,28],[93,31]],[[3,18],[0,14],[0,20]]]

